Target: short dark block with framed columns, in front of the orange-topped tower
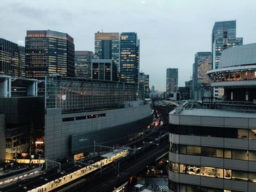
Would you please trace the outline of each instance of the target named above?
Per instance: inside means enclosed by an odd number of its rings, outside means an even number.
[[[116,64],[112,59],[91,59],[91,79],[116,81]]]

